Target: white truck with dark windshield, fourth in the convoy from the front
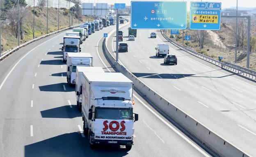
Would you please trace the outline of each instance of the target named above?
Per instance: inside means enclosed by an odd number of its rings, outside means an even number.
[[[73,36],[73,35],[65,35],[63,37],[63,62],[65,63],[67,60],[67,53],[68,52],[80,52],[80,36]]]

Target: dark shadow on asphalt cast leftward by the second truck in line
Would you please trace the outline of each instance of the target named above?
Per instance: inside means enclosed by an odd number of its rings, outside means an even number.
[[[78,111],[76,105],[60,106],[56,108],[51,108],[48,110],[40,111],[43,118],[75,118],[81,117],[81,113]]]

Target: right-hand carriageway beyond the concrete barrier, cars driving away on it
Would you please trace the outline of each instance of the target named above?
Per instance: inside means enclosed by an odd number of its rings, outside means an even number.
[[[123,42],[128,43],[128,52],[119,53],[119,62],[201,124],[240,150],[256,155],[256,83],[178,49],[160,30],[137,30],[135,41],[128,41],[129,25],[119,30],[124,32]],[[157,33],[157,38],[150,38],[151,32]],[[114,36],[107,43],[113,52]],[[163,57],[156,57],[157,44],[169,44],[178,64],[165,65]]]

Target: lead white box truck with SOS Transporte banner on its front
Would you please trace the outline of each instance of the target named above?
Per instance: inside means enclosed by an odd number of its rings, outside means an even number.
[[[133,145],[133,82],[122,73],[84,72],[82,119],[89,144]],[[133,116],[134,114],[134,116]]]

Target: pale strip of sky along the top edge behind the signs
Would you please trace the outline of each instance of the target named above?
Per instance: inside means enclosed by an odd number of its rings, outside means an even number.
[[[126,3],[130,6],[131,0],[82,0],[84,3]],[[159,1],[159,0],[148,0],[148,1]],[[165,1],[165,0],[162,0]],[[167,0],[172,1],[172,0]],[[174,1],[183,1],[183,0],[174,0]],[[200,2],[201,0],[184,0],[187,1],[187,7],[190,7],[190,1]],[[222,8],[236,7],[236,0],[203,0],[203,2],[222,2]],[[238,7],[256,7],[256,0],[238,0]]]

